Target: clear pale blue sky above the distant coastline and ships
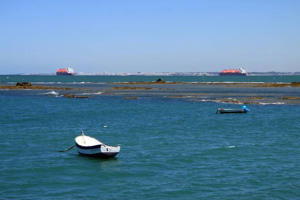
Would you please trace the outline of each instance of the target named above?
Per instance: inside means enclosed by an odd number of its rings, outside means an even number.
[[[300,0],[0,0],[0,74],[300,71]]]

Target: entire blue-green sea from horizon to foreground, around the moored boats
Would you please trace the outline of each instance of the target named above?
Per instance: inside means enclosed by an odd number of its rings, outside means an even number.
[[[185,84],[126,84],[159,78]],[[0,85],[70,88],[0,89],[0,199],[299,199],[300,102],[282,97],[300,87],[197,84],[292,81],[300,76],[0,75]],[[216,113],[242,105],[250,111]],[[58,152],[81,130],[120,152]]]

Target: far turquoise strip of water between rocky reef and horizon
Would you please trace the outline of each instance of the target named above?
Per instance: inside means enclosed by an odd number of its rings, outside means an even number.
[[[161,78],[165,81],[178,82],[300,82],[300,75],[247,75],[247,76],[220,76],[220,75],[0,75],[0,83],[7,82],[129,82],[129,81],[156,81]]]

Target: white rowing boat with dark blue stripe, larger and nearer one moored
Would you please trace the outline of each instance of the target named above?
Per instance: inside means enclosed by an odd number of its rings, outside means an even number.
[[[121,145],[108,146],[96,138],[83,134],[75,137],[75,145],[80,155],[109,158],[114,157],[120,151]]]

